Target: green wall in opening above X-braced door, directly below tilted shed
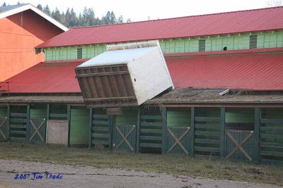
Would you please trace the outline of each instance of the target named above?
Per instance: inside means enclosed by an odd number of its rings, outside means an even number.
[[[123,108],[122,111],[122,115],[115,115],[115,125],[137,125],[136,107]]]

